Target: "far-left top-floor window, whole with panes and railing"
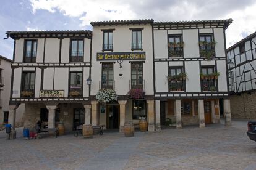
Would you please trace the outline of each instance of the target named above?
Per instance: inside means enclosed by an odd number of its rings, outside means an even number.
[[[36,40],[26,40],[25,41],[25,54],[24,54],[24,62],[25,63],[35,63],[36,62],[36,49],[37,49],[37,41]]]

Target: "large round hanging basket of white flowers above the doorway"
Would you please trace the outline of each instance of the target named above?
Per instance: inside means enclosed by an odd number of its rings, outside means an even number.
[[[96,94],[96,99],[98,102],[110,102],[112,100],[117,100],[118,95],[113,89],[100,89]]]

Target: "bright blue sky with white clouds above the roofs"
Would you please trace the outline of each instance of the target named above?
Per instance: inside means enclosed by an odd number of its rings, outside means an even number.
[[[256,31],[255,0],[0,0],[0,55],[12,59],[6,31],[92,30],[90,22],[232,18],[227,47]]]

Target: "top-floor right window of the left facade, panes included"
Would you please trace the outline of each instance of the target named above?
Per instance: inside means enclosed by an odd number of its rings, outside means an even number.
[[[70,62],[83,62],[83,39],[73,39],[70,43]]]

